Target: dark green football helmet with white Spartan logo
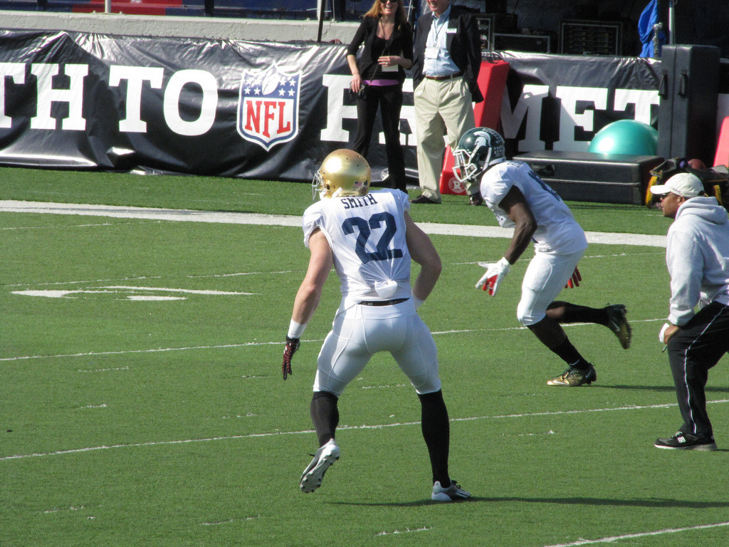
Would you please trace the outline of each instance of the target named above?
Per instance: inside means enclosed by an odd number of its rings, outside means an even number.
[[[453,175],[460,182],[475,179],[495,163],[504,161],[504,137],[487,127],[466,131],[453,150]]]

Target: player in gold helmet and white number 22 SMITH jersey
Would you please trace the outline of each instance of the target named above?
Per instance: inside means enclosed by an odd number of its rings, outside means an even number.
[[[421,402],[423,436],[432,467],[432,500],[470,497],[448,475],[450,430],[438,376],[433,337],[416,309],[440,276],[440,257],[430,238],[410,218],[408,195],[370,192],[370,166],[352,150],[335,150],[313,180],[321,200],[304,212],[304,244],[311,251],[297,292],[284,349],[283,374],[319,305],[332,265],[342,300],[317,360],[311,419],[319,449],[304,470],[300,488],[313,492],[339,459],[335,440],[338,399],[373,354],[390,352]],[[412,289],[410,260],[421,265]]]

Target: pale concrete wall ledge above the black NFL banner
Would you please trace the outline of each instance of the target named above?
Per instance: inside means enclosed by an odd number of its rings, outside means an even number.
[[[160,17],[117,13],[20,12],[0,10],[0,28],[79,31],[125,36],[186,36],[260,42],[316,41],[316,20],[263,20],[211,17]],[[322,42],[348,44],[359,23],[325,21]]]

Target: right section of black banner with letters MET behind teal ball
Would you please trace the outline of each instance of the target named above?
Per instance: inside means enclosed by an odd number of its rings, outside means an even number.
[[[660,61],[514,52],[501,57],[510,63],[502,103],[509,155],[584,152],[608,123],[658,123]]]

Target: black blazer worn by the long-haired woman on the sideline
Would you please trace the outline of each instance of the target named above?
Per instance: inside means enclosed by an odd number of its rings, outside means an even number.
[[[377,34],[378,18],[365,17],[359,24],[351,44],[347,47],[347,55],[357,54],[359,46],[364,42],[362,55],[357,60],[357,68],[362,79],[374,79],[382,77],[388,79],[397,79],[400,83],[405,81],[405,69],[402,66],[397,67],[397,75],[394,72],[381,71],[377,59],[373,58],[372,44]],[[392,36],[387,42],[387,46],[383,55],[399,55],[413,61],[413,31],[410,29],[410,23],[403,23],[398,29],[395,27]]]

